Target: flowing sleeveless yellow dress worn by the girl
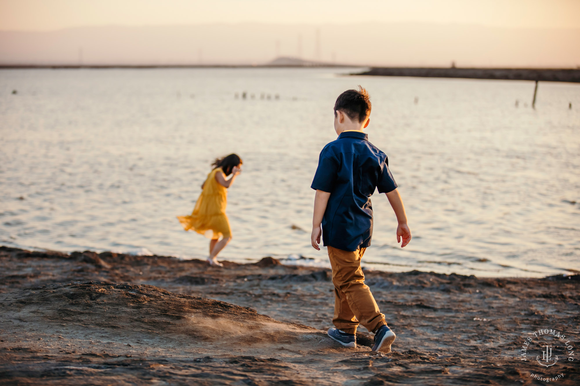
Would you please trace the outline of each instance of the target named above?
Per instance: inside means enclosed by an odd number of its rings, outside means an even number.
[[[222,168],[216,167],[208,174],[190,216],[177,216],[184,230],[192,230],[211,239],[231,236],[230,221],[226,216],[227,189],[216,181],[216,173],[223,173]]]

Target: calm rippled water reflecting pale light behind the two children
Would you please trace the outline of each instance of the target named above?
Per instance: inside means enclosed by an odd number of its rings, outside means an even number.
[[[234,239],[220,258],[327,265],[310,246],[310,183],[336,138],[334,100],[360,83],[369,139],[389,156],[414,235],[397,247],[375,193],[369,267],[580,270],[580,85],[540,83],[534,111],[532,82],[336,71],[0,71],[0,243],[203,258],[207,239],[175,216],[193,209],[212,159],[237,152]]]

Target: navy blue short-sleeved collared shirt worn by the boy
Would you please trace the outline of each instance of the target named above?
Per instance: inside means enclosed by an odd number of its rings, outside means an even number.
[[[322,219],[325,246],[355,251],[371,245],[375,188],[388,193],[397,188],[385,153],[362,132],[342,132],[320,152],[311,188],[329,192]]]

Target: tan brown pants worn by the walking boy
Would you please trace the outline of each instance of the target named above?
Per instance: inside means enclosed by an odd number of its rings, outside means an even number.
[[[354,252],[328,247],[332,265],[335,303],[332,323],[339,330],[356,334],[358,323],[371,332],[386,325],[371,289],[364,283],[361,257],[366,248]]]

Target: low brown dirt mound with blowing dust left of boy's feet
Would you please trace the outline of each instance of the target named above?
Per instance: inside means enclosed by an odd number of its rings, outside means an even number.
[[[322,334],[311,327],[278,322],[252,308],[127,283],[88,281],[31,287],[2,294],[0,307],[6,315],[13,312],[19,319],[34,319],[43,325],[83,326],[128,335],[181,334],[194,341],[219,342],[227,337],[228,344],[290,343],[300,340],[301,334]]]

